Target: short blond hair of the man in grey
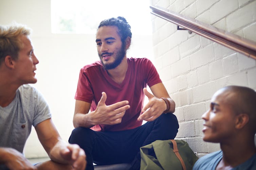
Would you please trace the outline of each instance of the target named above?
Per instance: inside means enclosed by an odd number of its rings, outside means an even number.
[[[18,52],[23,48],[22,35],[30,35],[31,29],[25,25],[14,23],[10,26],[0,25],[0,65],[5,56],[18,58]]]

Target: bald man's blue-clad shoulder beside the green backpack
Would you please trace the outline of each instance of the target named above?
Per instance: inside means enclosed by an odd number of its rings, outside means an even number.
[[[200,157],[197,162],[195,163],[193,170],[197,169],[215,169],[219,160],[222,158],[222,151],[217,151],[213,153],[209,153],[205,156]]]

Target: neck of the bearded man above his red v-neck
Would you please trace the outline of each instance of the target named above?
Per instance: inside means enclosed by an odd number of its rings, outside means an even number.
[[[120,65],[118,65],[116,68],[107,70],[108,75],[118,84],[121,84],[125,78],[126,72],[128,70],[128,63],[126,55],[123,58]]]

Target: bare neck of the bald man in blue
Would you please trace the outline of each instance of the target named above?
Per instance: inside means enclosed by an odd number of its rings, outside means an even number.
[[[232,140],[231,143],[220,144],[223,152],[221,161],[224,166],[236,167],[249,160],[256,153],[254,135],[251,136],[250,138],[246,138],[243,134],[241,137],[236,138],[236,140]]]

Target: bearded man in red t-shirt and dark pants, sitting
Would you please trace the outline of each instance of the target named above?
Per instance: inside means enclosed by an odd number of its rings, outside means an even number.
[[[175,102],[156,68],[147,58],[126,57],[130,28],[123,17],[102,21],[96,33],[100,61],[86,65],[79,74],[75,129],[69,142],[86,151],[87,170],[93,169],[93,162],[131,163],[131,169],[139,169],[141,146],[174,139],[178,132],[172,114]],[[145,95],[149,102],[143,107]],[[142,125],[143,120],[147,123]]]

